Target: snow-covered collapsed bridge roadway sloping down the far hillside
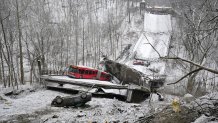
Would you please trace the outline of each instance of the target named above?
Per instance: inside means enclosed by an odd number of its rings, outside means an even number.
[[[158,75],[164,74],[165,62],[159,57],[168,55],[168,48],[172,33],[171,15],[169,14],[144,14],[144,31],[136,44],[130,49],[130,56],[121,62],[141,71],[147,75],[153,75],[155,70]],[[143,59],[150,62],[148,67],[133,65],[135,59]]]

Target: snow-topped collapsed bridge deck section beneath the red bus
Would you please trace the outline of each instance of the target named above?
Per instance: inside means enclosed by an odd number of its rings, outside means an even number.
[[[41,79],[48,89],[87,91],[98,97],[122,97],[127,102],[141,102],[150,95],[149,88],[137,85],[120,85],[108,81],[74,79],[58,75],[43,75]]]

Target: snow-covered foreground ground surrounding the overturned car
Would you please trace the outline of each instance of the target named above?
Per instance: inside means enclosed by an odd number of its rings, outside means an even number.
[[[149,99],[140,104],[134,104],[117,99],[92,98],[85,107],[51,107],[51,101],[58,95],[68,96],[69,94],[38,89],[35,92],[11,98],[1,93],[0,122],[133,122],[148,115],[152,108],[156,110],[158,106],[168,104],[159,102],[157,96],[153,95],[152,106],[149,104]]]

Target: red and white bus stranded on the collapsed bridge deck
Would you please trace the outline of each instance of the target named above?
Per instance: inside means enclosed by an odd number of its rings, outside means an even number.
[[[101,81],[111,80],[111,75],[109,73],[85,66],[70,65],[66,68],[64,75],[76,79],[97,79]]]

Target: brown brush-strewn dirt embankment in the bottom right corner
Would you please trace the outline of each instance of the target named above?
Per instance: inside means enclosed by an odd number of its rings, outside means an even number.
[[[204,116],[207,122],[218,122],[218,93],[209,94],[189,104],[181,105],[180,112],[174,112],[171,105],[160,112],[141,118],[142,123],[191,123]],[[196,123],[205,123],[205,120]]]

